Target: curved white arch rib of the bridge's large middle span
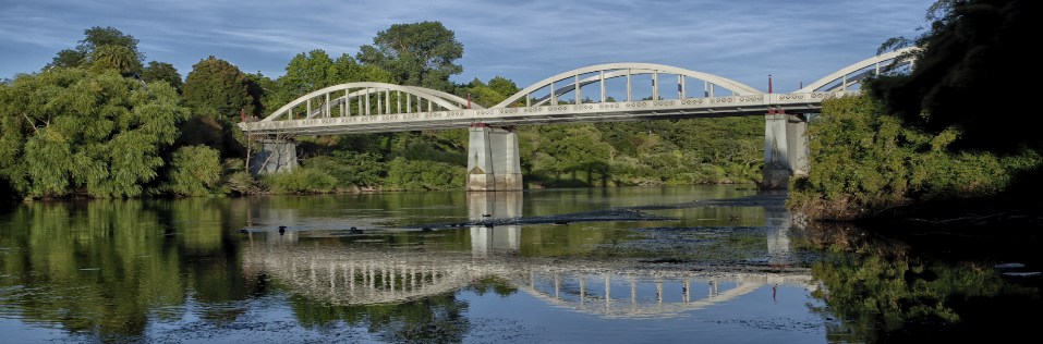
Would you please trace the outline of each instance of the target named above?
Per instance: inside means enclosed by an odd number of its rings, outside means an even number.
[[[652,74],[656,72],[662,72],[664,74],[684,75],[684,76],[702,79],[704,82],[708,82],[714,85],[721,86],[739,96],[761,94],[760,90],[756,90],[753,87],[750,87],[745,84],[742,84],[726,77],[721,77],[721,76],[717,76],[717,75],[713,75],[708,73],[703,73],[703,72],[680,69],[676,66],[655,64],[655,63],[606,63],[606,64],[596,64],[596,65],[590,65],[590,66],[585,66],[581,69],[575,69],[572,71],[568,71],[558,75],[545,78],[543,81],[539,81],[533,84],[532,86],[525,87],[525,89],[518,91],[513,96],[507,98],[507,100],[504,100],[500,103],[493,106],[493,109],[506,108],[507,106],[514,103],[516,101],[522,99],[523,97],[529,97],[529,95],[532,94],[533,91],[536,91],[541,88],[549,86],[551,83],[555,83],[561,79],[573,78],[578,75],[583,75],[583,74],[594,73],[594,72],[603,72],[603,71],[608,72],[605,74],[606,79],[611,77],[626,76],[628,74],[641,75],[641,74]],[[627,71],[629,71],[629,73]],[[596,79],[601,79],[601,76],[598,76],[597,78],[594,78],[594,77],[584,78],[583,81],[580,82],[580,84],[581,86],[586,85],[590,83],[594,83]],[[560,95],[560,94],[571,91],[574,88],[575,88],[575,83],[573,82],[573,83],[566,83],[563,84],[563,87],[553,89],[551,91],[555,95]],[[543,101],[541,101],[541,103]]]

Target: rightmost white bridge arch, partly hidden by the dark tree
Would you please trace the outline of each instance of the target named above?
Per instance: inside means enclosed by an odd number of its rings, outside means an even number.
[[[888,61],[897,60],[898,63],[896,66],[912,65],[913,60],[909,57],[909,54],[917,49],[919,48],[909,47],[905,49],[898,49],[856,62],[834,72],[833,74],[826,75],[814,83],[811,83],[796,93],[847,90],[848,87],[860,85],[863,79],[871,75],[880,75],[882,72],[882,66],[886,66],[885,63]]]

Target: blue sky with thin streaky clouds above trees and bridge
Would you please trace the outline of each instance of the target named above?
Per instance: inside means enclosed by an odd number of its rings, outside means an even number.
[[[524,88],[570,70],[659,63],[798,89],[912,37],[933,0],[0,0],[0,78],[33,73],[93,26],[140,40],[184,77],[209,56],[276,78],[298,53],[354,57],[393,24],[441,22],[466,83]]]

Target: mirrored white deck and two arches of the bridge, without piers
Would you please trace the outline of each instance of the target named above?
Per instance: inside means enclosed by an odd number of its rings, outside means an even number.
[[[250,274],[270,275],[294,293],[333,305],[423,299],[493,279],[550,305],[610,318],[679,316],[764,285],[815,287],[811,275],[801,273],[635,270],[580,259],[562,265],[523,257],[477,258],[445,251],[254,244],[245,249],[243,265]],[[693,293],[696,285],[705,285],[706,292]]]

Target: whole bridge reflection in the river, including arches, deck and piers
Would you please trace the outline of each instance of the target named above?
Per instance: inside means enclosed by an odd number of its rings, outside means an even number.
[[[522,214],[521,193],[470,193],[472,221]],[[789,217],[765,211],[772,266],[788,261]],[[549,305],[608,318],[674,317],[775,284],[813,290],[806,271],[687,271],[570,259],[562,263],[517,255],[521,225],[473,225],[471,254],[369,245],[301,245],[296,233],[253,233],[244,271],[268,274],[306,297],[335,305],[401,303],[453,293],[495,277]],[[257,236],[255,237],[254,234]],[[254,239],[256,238],[256,239]]]

